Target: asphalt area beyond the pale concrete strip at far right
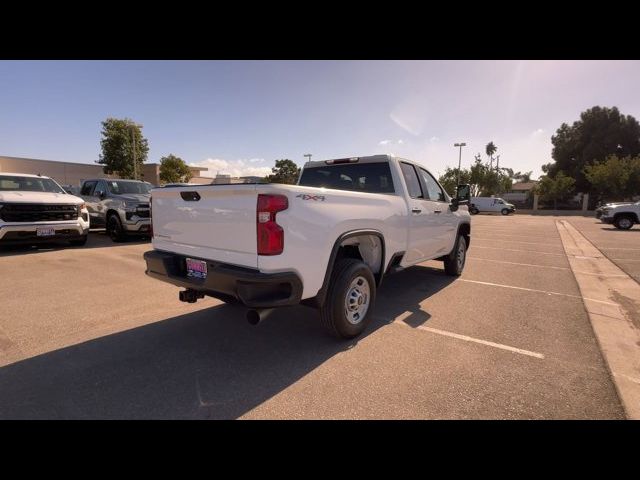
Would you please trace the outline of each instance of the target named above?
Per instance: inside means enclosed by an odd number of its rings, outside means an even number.
[[[618,230],[595,217],[574,217],[571,223],[609,260],[640,283],[640,226]]]

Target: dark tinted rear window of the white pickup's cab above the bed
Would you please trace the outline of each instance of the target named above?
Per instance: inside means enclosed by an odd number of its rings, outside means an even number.
[[[368,193],[394,193],[388,163],[338,164],[305,168],[299,185]]]

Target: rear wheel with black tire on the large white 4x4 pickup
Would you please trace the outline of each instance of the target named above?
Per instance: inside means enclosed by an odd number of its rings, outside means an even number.
[[[360,281],[362,283],[358,285],[357,282]],[[367,284],[368,295],[364,283]],[[357,318],[358,312],[354,310],[350,314],[351,321],[349,320],[346,306],[347,295],[350,295],[352,299],[355,298],[353,305],[355,310],[362,308],[360,299],[362,302],[368,302],[368,307],[365,312],[360,313],[360,318]],[[320,308],[320,319],[329,333],[335,337],[345,339],[357,337],[371,323],[375,300],[376,282],[371,269],[364,262],[355,258],[340,259],[333,267],[327,299]]]

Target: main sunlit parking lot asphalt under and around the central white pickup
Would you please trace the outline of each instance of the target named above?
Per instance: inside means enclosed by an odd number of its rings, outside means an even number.
[[[474,216],[462,277],[387,277],[348,342],[306,307],[181,303],[148,242],[0,251],[0,418],[624,418],[557,218]]]

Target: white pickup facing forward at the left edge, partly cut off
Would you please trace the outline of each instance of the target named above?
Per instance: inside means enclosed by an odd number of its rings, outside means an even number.
[[[0,245],[65,241],[87,243],[89,212],[82,199],[55,180],[0,173]]]

